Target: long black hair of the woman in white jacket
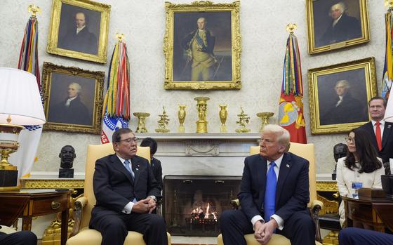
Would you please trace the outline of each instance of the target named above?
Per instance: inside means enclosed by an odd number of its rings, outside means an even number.
[[[355,146],[357,148],[356,153],[359,157],[360,164],[359,173],[371,173],[382,168],[382,163],[377,159],[377,151],[371,143],[371,135],[359,128],[349,131],[349,133],[355,134]],[[352,152],[347,152],[345,166],[352,171],[356,168],[355,157]]]

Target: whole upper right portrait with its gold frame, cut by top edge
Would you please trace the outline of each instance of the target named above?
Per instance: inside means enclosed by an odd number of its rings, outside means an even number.
[[[370,41],[366,0],[307,0],[308,52]]]

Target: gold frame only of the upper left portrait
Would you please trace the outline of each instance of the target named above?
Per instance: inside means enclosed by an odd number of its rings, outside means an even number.
[[[78,51],[58,48],[58,34],[62,4],[70,4],[101,13],[100,37],[98,37],[98,54],[83,53]],[[89,0],[53,0],[51,26],[48,32],[46,51],[54,55],[62,55],[80,60],[88,60],[105,64],[107,62],[107,44],[109,33],[109,14],[111,6]]]

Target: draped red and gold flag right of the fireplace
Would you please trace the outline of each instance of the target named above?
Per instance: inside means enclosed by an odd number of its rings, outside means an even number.
[[[279,103],[279,125],[291,133],[291,142],[307,143],[303,116],[302,68],[298,40],[293,32],[286,41],[283,81]]]

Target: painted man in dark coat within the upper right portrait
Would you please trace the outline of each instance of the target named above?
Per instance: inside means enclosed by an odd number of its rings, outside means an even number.
[[[329,16],[332,18],[332,21],[321,38],[321,46],[361,37],[359,20],[347,15],[346,11],[347,6],[342,1],[331,6]]]

